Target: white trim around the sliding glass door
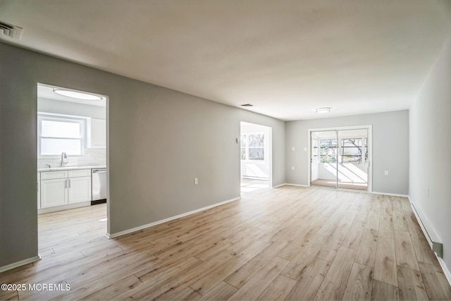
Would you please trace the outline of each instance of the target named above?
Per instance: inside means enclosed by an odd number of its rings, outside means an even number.
[[[349,125],[349,126],[337,126],[333,128],[309,128],[307,139],[307,161],[308,161],[308,186],[311,187],[311,132],[321,132],[327,130],[368,130],[368,190],[366,192],[373,192],[373,125]],[[336,190],[346,190],[345,188],[334,188]],[[358,190],[356,190],[358,191]]]

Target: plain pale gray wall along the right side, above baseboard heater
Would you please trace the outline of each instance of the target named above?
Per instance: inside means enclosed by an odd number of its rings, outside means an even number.
[[[451,270],[451,39],[410,108],[409,196]],[[429,190],[429,197],[426,189]]]

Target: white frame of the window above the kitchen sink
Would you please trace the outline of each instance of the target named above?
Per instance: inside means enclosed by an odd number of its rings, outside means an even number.
[[[85,147],[87,143],[87,119],[81,116],[62,115],[54,113],[37,113],[37,157],[38,158],[58,158],[59,155],[55,154],[42,154],[41,153],[41,140],[42,138],[61,139],[61,140],[80,140],[80,154],[70,154],[70,156],[84,156]],[[62,121],[70,123],[80,124],[80,138],[64,138],[64,137],[44,137],[41,135],[42,121]]]

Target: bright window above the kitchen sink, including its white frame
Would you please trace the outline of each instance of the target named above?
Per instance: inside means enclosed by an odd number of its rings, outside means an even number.
[[[38,115],[38,156],[81,156],[85,148],[86,119]]]

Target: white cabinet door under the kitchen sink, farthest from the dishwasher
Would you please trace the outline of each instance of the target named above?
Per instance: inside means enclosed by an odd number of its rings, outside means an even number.
[[[41,208],[68,204],[68,179],[41,180]]]

